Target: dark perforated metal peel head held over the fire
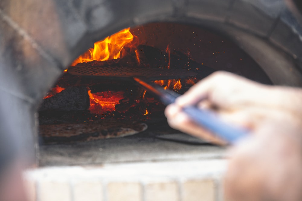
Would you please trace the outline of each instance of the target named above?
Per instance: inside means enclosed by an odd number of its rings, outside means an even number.
[[[178,79],[196,75],[194,72],[183,69],[130,68],[92,65],[70,67],[68,73],[77,76],[93,76],[108,79],[132,79],[134,76],[142,76],[149,80]]]

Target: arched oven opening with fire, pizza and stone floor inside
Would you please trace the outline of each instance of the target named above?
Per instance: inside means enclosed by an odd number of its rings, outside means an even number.
[[[170,128],[165,105],[133,79],[183,94],[219,70],[272,84],[235,43],[201,27],[149,23],[95,42],[43,99],[40,165],[223,157],[223,148]]]

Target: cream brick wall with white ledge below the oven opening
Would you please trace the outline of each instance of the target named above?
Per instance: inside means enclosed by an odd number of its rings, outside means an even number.
[[[222,201],[223,159],[47,167],[24,173],[30,201]]]

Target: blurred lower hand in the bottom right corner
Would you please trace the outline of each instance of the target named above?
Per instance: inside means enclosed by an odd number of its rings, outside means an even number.
[[[228,201],[302,200],[301,126],[274,120],[230,151],[224,179]]]

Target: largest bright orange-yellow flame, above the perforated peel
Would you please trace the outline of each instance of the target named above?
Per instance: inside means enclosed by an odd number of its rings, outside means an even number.
[[[104,40],[94,43],[94,48],[88,49],[87,52],[79,56],[72,62],[71,66],[88,61],[106,61],[109,59],[120,58],[120,52],[123,47],[133,41],[133,35],[130,27],[123,29]]]

